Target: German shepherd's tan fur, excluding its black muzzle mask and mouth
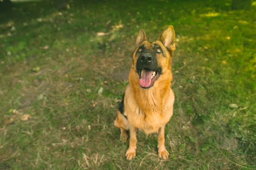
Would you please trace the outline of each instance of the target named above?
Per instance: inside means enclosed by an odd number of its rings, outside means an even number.
[[[162,68],[162,75],[154,82],[154,86],[143,89],[140,86],[136,70],[136,61],[139,57],[136,52],[141,44],[144,44],[146,49],[150,49],[154,43],[157,43],[163,50],[163,53],[157,54],[157,63]],[[164,146],[164,128],[172,117],[175,100],[171,89],[171,64],[174,50],[175,32],[173,26],[165,29],[158,40],[153,43],[147,41],[144,30],[140,29],[136,40],[136,49],[132,55],[133,64],[129,74],[129,85],[125,90],[123,114],[127,116],[128,120],[118,111],[114,122],[114,125],[121,130],[120,138],[123,138],[123,141],[126,141],[128,137],[126,130],[130,129],[130,144],[125,154],[127,159],[136,156],[136,132],[138,128],[146,134],[157,132],[158,155],[163,159],[167,159],[169,156]]]

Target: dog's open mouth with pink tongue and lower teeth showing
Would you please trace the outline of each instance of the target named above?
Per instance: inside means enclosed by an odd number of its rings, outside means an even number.
[[[152,71],[149,69],[143,69],[139,72],[140,86],[142,88],[148,89],[153,86],[154,82],[159,78],[159,71]]]

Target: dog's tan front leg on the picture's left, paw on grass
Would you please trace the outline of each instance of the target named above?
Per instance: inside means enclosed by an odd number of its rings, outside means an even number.
[[[126,159],[130,160],[136,156],[136,144],[137,144],[137,128],[129,124],[130,127],[130,144],[129,148],[125,153]]]

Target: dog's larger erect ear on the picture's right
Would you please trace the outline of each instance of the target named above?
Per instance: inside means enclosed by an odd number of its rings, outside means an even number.
[[[166,48],[175,50],[175,32],[173,26],[168,26],[158,38]]]

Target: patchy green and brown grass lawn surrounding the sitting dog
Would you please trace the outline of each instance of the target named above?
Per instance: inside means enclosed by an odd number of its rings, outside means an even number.
[[[0,14],[0,169],[256,169],[256,12],[230,4],[17,1]],[[168,25],[170,158],[140,132],[127,161],[113,120],[131,52],[140,28],[153,41]]]

